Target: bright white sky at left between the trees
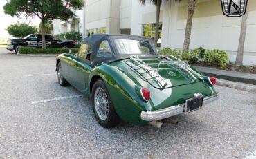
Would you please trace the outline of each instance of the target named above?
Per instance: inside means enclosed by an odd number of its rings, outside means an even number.
[[[0,0],[0,37],[3,38],[11,38],[11,36],[6,32],[6,28],[10,26],[10,24],[26,23],[31,26],[38,26],[40,23],[40,19],[38,17],[28,18],[22,17],[21,19],[17,17],[11,17],[10,15],[4,14],[3,6],[6,4],[6,0]]]

